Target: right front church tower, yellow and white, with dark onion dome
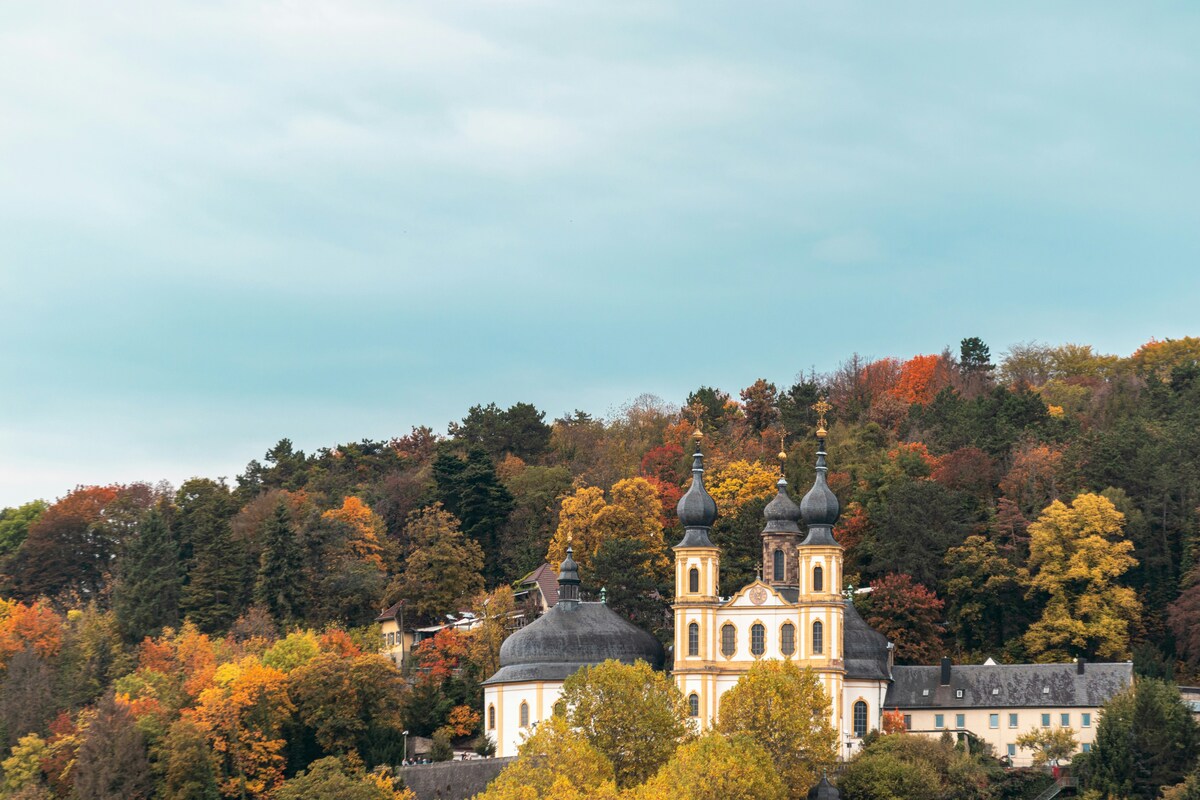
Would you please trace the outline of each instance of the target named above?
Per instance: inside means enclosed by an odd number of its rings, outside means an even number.
[[[833,527],[841,509],[829,488],[826,474],[826,413],[830,405],[816,404],[817,465],[812,488],[800,500],[800,515],[809,533],[797,549],[799,569],[800,631],[804,632],[804,661],[821,676],[833,700],[833,724],[841,730],[845,654],[841,652],[846,607],[841,597],[841,545],[833,537]]]

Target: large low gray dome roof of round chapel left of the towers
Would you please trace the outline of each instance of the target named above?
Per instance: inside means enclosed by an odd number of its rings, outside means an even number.
[[[559,602],[500,645],[500,668],[487,684],[565,680],[580,667],[616,658],[662,668],[662,645],[604,603]]]

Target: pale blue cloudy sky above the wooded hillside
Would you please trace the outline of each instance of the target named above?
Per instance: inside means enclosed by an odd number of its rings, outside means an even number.
[[[1194,2],[0,4],[0,507],[1200,335]]]

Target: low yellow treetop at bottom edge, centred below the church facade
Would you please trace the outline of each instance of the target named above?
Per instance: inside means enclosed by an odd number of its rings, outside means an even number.
[[[750,736],[709,732],[679,747],[631,800],[784,800],[770,756]]]

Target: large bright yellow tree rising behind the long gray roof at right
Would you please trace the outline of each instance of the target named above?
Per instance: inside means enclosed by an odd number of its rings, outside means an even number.
[[[1138,564],[1123,529],[1124,515],[1099,494],[1080,494],[1069,506],[1055,500],[1030,525],[1028,594],[1048,597],[1025,633],[1038,661],[1128,657],[1129,622],[1141,604],[1116,583]]]

